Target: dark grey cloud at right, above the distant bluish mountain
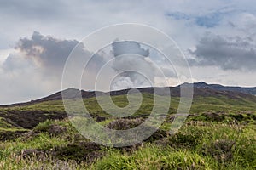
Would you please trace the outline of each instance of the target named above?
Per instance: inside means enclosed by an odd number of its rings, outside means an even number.
[[[256,46],[250,37],[221,37],[207,33],[190,54],[190,65],[216,65],[224,70],[255,70]]]

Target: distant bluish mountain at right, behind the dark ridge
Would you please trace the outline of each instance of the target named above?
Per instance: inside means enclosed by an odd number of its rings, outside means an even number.
[[[190,83],[184,83],[183,85],[192,85]],[[231,92],[240,92],[244,94],[253,94],[256,95],[256,87],[253,88],[243,88],[243,87],[233,87],[233,86],[223,86],[220,84],[207,84],[206,82],[194,82],[193,86],[195,88],[211,88],[219,91],[231,91]]]

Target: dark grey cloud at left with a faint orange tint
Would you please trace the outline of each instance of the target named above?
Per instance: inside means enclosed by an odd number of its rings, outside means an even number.
[[[40,65],[62,67],[70,52],[79,42],[76,40],[58,40],[44,37],[34,31],[31,38],[20,38],[17,49],[27,57],[35,59]]]

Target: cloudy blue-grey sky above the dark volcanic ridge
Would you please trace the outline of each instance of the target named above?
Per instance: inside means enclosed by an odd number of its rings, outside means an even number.
[[[92,55],[86,45],[77,46],[84,37],[122,23],[152,26],[172,37],[188,60],[193,82],[255,87],[255,11],[253,0],[0,0],[0,105],[60,91],[63,68],[73,48],[83,56]],[[111,66],[103,71],[97,90],[108,90],[104,81],[110,77],[112,90],[176,86],[186,81],[177,78],[175,69],[154,48],[135,41],[113,42],[90,61],[84,73],[87,78],[82,80],[88,86],[81,88],[95,89],[90,78],[108,59],[113,59]],[[117,57],[129,53],[133,55]],[[165,81],[154,64],[162,68]],[[143,75],[122,72],[124,68],[146,72],[152,83]],[[162,83],[166,80],[167,84]]]

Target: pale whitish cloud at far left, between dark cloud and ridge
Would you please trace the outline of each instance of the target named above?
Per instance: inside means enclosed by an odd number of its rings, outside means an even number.
[[[32,60],[12,52],[0,64],[0,104],[38,99],[60,89],[58,80],[49,74],[46,77]]]

